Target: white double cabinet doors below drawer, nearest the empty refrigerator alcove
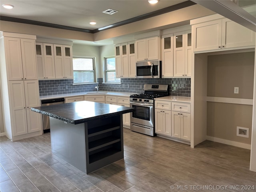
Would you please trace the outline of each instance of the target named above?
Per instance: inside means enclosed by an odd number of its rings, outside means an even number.
[[[172,137],[190,141],[190,113],[172,111]]]

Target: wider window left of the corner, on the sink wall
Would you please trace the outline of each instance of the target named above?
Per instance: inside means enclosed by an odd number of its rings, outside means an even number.
[[[95,58],[73,57],[74,84],[95,82]]]

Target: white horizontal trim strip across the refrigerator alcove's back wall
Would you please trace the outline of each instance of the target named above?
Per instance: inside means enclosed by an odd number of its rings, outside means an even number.
[[[252,105],[253,99],[227,98],[227,97],[207,97],[206,101],[219,103],[233,103],[242,105]]]

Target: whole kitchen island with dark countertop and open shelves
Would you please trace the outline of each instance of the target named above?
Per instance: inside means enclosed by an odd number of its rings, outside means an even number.
[[[52,153],[82,172],[124,158],[122,114],[134,108],[80,101],[31,110],[50,116]]]

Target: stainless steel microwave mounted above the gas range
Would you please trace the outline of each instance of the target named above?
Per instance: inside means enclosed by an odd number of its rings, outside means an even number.
[[[161,61],[136,62],[137,78],[161,78]]]

